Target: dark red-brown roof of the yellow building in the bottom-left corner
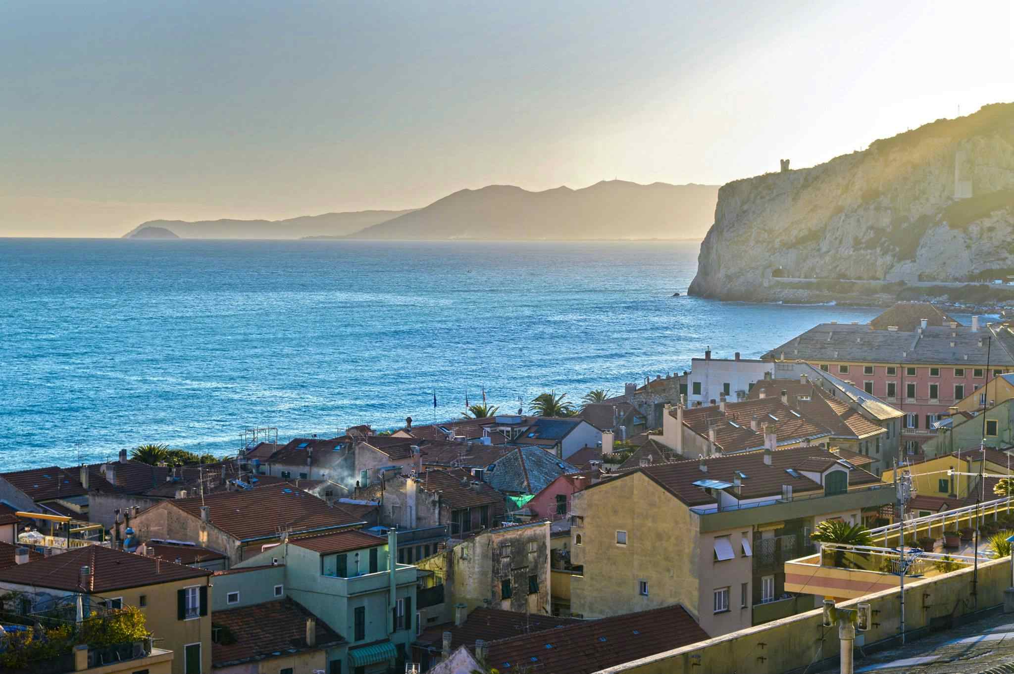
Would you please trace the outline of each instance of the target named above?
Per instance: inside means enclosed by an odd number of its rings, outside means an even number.
[[[81,567],[90,570],[85,579],[85,589],[89,594],[211,576],[206,569],[101,545],[86,545],[38,561],[2,569],[0,582],[74,592],[81,588]]]

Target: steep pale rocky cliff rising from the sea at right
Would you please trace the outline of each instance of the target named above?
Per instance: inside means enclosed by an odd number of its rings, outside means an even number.
[[[901,286],[1008,274],[1014,103],[997,103],[812,168],[723,185],[690,293],[798,300],[813,286],[779,277]]]

